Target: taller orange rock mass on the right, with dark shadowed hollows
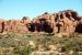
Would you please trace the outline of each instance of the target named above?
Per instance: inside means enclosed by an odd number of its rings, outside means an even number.
[[[78,29],[78,25],[82,25],[80,24],[82,23],[82,18],[79,16],[79,14],[72,10],[60,11],[54,14],[46,12],[35,18],[33,21],[35,31],[37,32],[44,31],[52,34],[56,33],[70,34],[79,29],[81,31],[82,29],[82,26]]]

